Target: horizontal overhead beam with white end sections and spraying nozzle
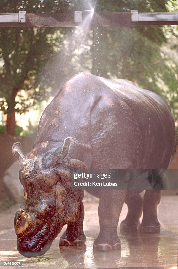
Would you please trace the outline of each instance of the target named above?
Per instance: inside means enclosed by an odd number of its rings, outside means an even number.
[[[75,10],[75,12],[55,13],[1,13],[1,27],[130,27],[141,25],[178,25],[177,12],[94,12]]]

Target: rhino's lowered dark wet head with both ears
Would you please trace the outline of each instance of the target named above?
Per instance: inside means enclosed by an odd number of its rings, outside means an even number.
[[[43,255],[77,214],[84,191],[70,189],[70,169],[86,169],[86,165],[71,158],[72,145],[69,137],[55,150],[45,154],[32,151],[28,158],[19,142],[12,147],[20,162],[19,178],[25,196],[14,226],[17,249],[25,257]]]

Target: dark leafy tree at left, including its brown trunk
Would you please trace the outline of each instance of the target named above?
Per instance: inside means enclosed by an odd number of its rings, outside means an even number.
[[[60,2],[60,7],[59,7]],[[63,12],[66,2],[52,0],[0,1],[2,13]],[[61,33],[62,33],[61,29]],[[55,29],[2,27],[0,31],[0,94],[3,97],[1,109],[7,114],[6,133],[15,135],[15,111],[24,112],[30,104],[21,100],[16,106],[16,96],[21,89],[28,91],[28,98],[45,98],[47,84],[35,84],[38,70],[53,52],[51,35]],[[59,39],[59,36],[57,37]],[[42,87],[43,86],[43,87]],[[40,89],[39,89],[40,88]],[[5,104],[4,104],[5,101]],[[16,109],[15,109],[16,107]]]

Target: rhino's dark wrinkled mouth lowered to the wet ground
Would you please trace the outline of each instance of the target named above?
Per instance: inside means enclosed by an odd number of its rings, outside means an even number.
[[[46,251],[48,251],[52,242],[53,240],[48,243],[39,243],[35,246],[27,243],[20,243],[19,240],[17,240],[17,250],[26,258],[42,256]]]

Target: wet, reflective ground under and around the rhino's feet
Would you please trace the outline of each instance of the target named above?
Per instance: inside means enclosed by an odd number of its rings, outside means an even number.
[[[52,246],[41,257],[25,258],[16,249],[16,235],[13,228],[14,214],[20,204],[0,213],[0,268],[2,261],[22,261],[17,268],[119,268],[119,267],[161,267],[177,268],[177,232],[178,210],[177,196],[162,196],[158,208],[161,232],[156,234],[118,235],[121,239],[121,250],[112,252],[93,251],[93,241],[99,233],[97,214],[98,200],[84,197],[85,219],[84,232],[86,243],[82,247],[60,247],[59,238],[65,227],[54,240]],[[127,214],[124,204],[119,223]]]

